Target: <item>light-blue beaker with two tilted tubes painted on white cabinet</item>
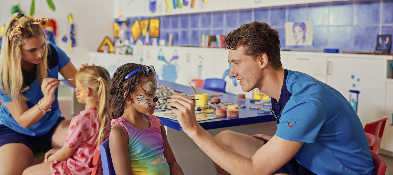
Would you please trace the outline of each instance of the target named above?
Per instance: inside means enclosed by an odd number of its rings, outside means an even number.
[[[158,60],[161,60],[163,62],[165,62],[166,64],[164,64],[164,66],[162,67],[162,79],[164,81],[169,81],[169,82],[176,82],[177,79],[177,69],[178,69],[178,64],[176,62],[174,62],[173,64],[171,62],[173,62],[174,60],[179,59],[178,56],[178,52],[175,49],[173,52],[173,56],[172,59],[167,62],[167,60],[165,60],[164,54],[162,52],[162,49],[160,49],[158,51]]]

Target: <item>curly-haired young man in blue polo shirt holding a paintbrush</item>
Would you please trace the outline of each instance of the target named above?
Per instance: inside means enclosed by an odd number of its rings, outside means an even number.
[[[374,175],[362,124],[343,95],[301,72],[283,69],[277,30],[265,22],[243,24],[224,40],[230,76],[242,90],[258,88],[272,99],[277,131],[211,137],[195,119],[194,103],[173,95],[170,105],[183,130],[215,162],[220,174]],[[264,144],[263,140],[268,140]]]

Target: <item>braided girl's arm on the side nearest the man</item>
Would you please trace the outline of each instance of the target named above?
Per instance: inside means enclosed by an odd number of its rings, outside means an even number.
[[[180,168],[180,165],[176,162],[176,159],[174,158],[171,146],[169,146],[169,142],[167,139],[167,133],[165,132],[164,124],[160,120],[161,123],[161,133],[162,133],[162,140],[164,141],[163,147],[164,147],[164,156],[167,158],[167,162],[169,165],[169,170],[171,172],[171,175],[184,175],[182,168]]]

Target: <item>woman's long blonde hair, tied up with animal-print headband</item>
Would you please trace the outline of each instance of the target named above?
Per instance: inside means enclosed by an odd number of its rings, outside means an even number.
[[[33,19],[22,16],[18,18],[18,13],[14,13],[11,18],[9,18],[6,25],[6,29],[3,34],[3,43],[0,51],[0,78],[2,78],[2,86],[0,85],[1,91],[12,98],[13,101],[21,99],[27,101],[26,97],[22,96],[20,90],[22,89],[23,75],[22,75],[22,53],[21,47],[25,44],[24,40],[39,36],[46,35],[44,29],[39,24],[31,24]],[[9,41],[9,35],[11,31],[22,23],[29,23],[29,26],[21,28],[22,33],[20,35],[14,35],[12,40]],[[45,46],[44,56],[41,62],[37,65],[37,78],[39,84],[48,75],[48,44]]]

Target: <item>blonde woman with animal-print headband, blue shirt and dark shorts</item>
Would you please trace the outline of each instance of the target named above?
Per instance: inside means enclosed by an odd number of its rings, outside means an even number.
[[[22,174],[34,154],[60,148],[70,120],[61,117],[57,101],[59,73],[74,78],[70,58],[46,41],[41,25],[14,13],[7,22],[0,51],[0,172]],[[75,87],[75,81],[68,81]]]

